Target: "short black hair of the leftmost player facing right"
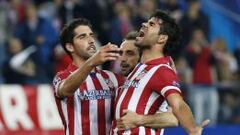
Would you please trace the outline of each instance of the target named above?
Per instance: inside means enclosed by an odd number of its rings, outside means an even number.
[[[74,30],[75,30],[75,28],[77,28],[80,25],[89,26],[90,28],[92,28],[92,25],[91,25],[89,20],[87,20],[85,18],[77,18],[77,19],[74,19],[69,24],[67,24],[63,27],[63,29],[61,31],[61,34],[60,34],[60,37],[59,37],[64,51],[70,57],[72,57],[72,56],[71,56],[71,53],[67,50],[66,44],[67,43],[73,43],[73,38],[76,35]]]

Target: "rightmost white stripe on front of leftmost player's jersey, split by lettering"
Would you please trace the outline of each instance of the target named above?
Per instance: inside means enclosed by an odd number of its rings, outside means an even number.
[[[106,82],[104,81],[104,78],[100,75],[97,74],[97,78],[102,86],[103,89],[105,90],[110,90]],[[111,128],[111,100],[112,99],[105,99],[105,121],[106,121],[106,133],[109,133],[110,128]]]

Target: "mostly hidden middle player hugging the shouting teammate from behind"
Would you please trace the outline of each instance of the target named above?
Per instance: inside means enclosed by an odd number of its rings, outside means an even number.
[[[124,41],[120,46],[120,69],[121,74],[127,77],[130,72],[135,68],[140,60],[141,53],[139,48],[135,46],[137,32],[129,32],[125,37]],[[172,66],[175,68],[173,61],[171,60]],[[116,96],[121,92],[118,90]],[[135,128],[138,126],[146,126],[152,128],[165,128],[173,127],[178,125],[178,120],[168,108],[168,104],[165,102],[159,108],[158,112],[154,115],[139,115],[135,112],[124,110],[125,115],[122,120],[128,119],[128,128]],[[115,123],[118,129],[124,129],[121,121]]]

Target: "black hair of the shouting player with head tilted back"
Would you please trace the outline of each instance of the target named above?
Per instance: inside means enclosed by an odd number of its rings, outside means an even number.
[[[160,24],[161,26],[159,29],[159,34],[168,35],[168,40],[163,47],[163,54],[165,56],[172,55],[172,53],[175,53],[175,49],[177,49],[180,43],[179,26],[173,18],[161,10],[156,10],[150,18],[152,17],[162,20],[162,23]]]

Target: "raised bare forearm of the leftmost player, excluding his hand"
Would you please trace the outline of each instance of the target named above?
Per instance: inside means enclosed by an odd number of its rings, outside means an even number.
[[[73,95],[94,67],[95,66],[92,65],[91,61],[87,60],[82,66],[64,80],[59,87],[58,96],[64,97]]]

